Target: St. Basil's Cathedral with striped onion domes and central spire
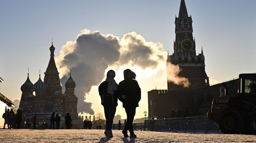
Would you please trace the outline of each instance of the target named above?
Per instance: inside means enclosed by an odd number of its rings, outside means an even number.
[[[65,83],[65,93],[60,85],[59,72],[54,60],[55,47],[50,47],[50,61],[46,69],[44,81],[39,80],[33,84],[28,78],[20,87],[22,91],[19,109],[26,115],[27,120],[32,119],[33,114],[37,114],[37,125],[47,121],[50,123],[52,112],[61,117],[61,126],[64,127],[65,115],[69,113],[72,118],[74,129],[82,128],[82,118],[78,116],[77,102],[78,98],[74,94],[76,83],[72,79],[71,73]],[[35,91],[35,95],[33,92]]]

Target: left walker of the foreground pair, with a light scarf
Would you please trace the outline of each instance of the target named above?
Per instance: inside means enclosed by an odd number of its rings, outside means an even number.
[[[107,78],[105,81],[100,83],[98,91],[101,98],[101,105],[104,107],[104,113],[106,118],[106,130],[104,134],[106,137],[112,138],[112,125],[115,117],[115,111],[117,109],[117,98],[118,98],[118,84],[114,80],[115,71],[109,70],[107,72]],[[101,125],[99,125],[99,128]]]

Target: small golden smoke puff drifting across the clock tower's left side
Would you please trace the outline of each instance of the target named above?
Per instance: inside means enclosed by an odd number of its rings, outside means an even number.
[[[190,83],[187,78],[179,77],[178,74],[181,71],[178,65],[167,63],[167,80],[173,82],[176,85],[182,85],[184,88],[188,88]]]

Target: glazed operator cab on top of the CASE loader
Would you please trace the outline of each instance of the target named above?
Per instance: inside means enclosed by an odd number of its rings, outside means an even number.
[[[256,74],[239,74],[239,94],[243,103],[256,104]]]

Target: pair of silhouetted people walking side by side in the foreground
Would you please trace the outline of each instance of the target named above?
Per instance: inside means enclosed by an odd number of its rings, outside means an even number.
[[[136,74],[133,71],[126,69],[124,70],[124,80],[118,85],[114,80],[115,71],[109,70],[107,72],[106,81],[103,81],[98,88],[106,118],[106,130],[104,132],[106,137],[113,137],[111,129],[118,99],[122,102],[123,108],[127,114],[127,122],[124,125],[122,133],[124,134],[124,137],[129,137],[129,130],[130,138],[137,137],[134,134],[132,123],[136,107],[139,107],[138,103],[141,100],[141,89],[138,82],[135,80],[135,77]]]

